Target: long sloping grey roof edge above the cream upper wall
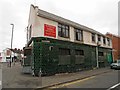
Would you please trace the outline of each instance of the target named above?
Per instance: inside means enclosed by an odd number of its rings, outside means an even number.
[[[34,6],[34,5],[31,5],[31,6],[33,6],[33,8],[38,8],[37,6]],[[91,28],[86,27],[86,26],[84,26],[84,25],[78,24],[78,23],[73,22],[73,21],[71,21],[71,20],[62,18],[62,17],[57,16],[57,15],[55,15],[55,14],[52,14],[52,13],[43,11],[43,10],[41,10],[41,9],[38,9],[37,15],[40,16],[40,17],[44,17],[44,18],[47,18],[47,19],[50,19],[50,20],[59,22],[59,23],[64,23],[64,24],[67,24],[67,25],[70,25],[70,26],[73,26],[73,27],[76,27],[76,28],[79,28],[79,29],[82,29],[82,30],[85,30],[85,31],[89,31],[89,32],[91,32],[91,33],[96,33],[96,34],[105,36],[104,34],[98,32],[98,31],[96,31],[96,30],[94,30],[94,29],[91,29]]]

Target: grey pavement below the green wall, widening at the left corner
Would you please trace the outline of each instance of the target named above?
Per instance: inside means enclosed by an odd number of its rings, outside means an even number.
[[[61,73],[53,76],[33,77],[30,74],[22,73],[20,63],[7,67],[2,64],[2,86],[3,88],[48,88],[51,86],[84,79],[107,72],[111,72],[109,67],[80,71],[76,73]]]

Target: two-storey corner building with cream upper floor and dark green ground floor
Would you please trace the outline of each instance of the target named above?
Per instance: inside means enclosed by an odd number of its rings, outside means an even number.
[[[76,17],[77,18],[77,17]],[[112,61],[109,37],[31,5],[24,71],[34,75],[105,67]]]

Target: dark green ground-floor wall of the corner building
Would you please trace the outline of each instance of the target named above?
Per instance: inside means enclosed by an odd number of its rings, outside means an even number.
[[[49,38],[33,38],[32,41],[31,65],[36,75],[39,71],[43,74],[75,72],[92,69],[97,65],[95,46]],[[61,55],[60,48],[68,49],[69,55]],[[75,50],[83,50],[84,55],[76,55]],[[110,58],[108,55],[112,55],[111,50],[98,47],[98,51],[104,53],[103,56],[98,57],[99,67],[108,66]]]

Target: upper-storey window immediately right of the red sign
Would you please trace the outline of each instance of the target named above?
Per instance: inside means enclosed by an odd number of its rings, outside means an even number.
[[[58,36],[69,38],[69,26],[64,24],[58,24]]]

